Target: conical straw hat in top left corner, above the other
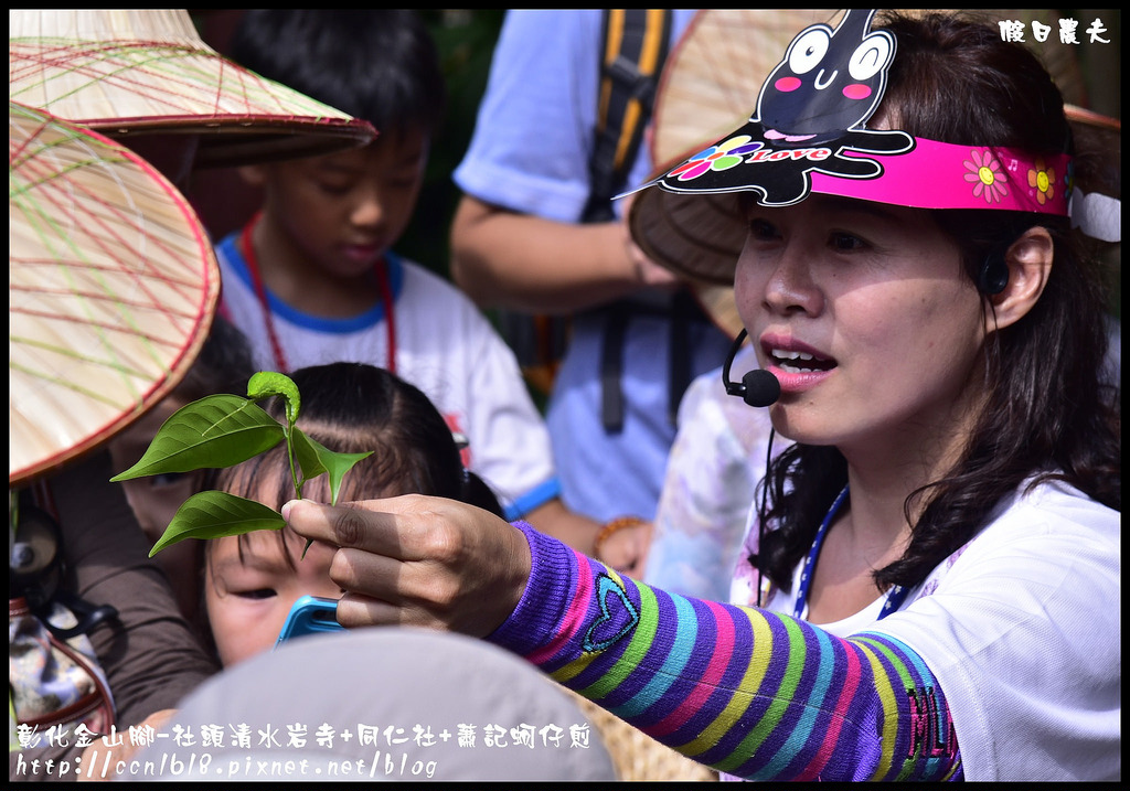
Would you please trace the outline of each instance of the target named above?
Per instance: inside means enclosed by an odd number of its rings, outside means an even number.
[[[8,21],[10,99],[127,142],[199,134],[198,167],[328,154],[376,134],[224,58],[184,9],[12,9]]]

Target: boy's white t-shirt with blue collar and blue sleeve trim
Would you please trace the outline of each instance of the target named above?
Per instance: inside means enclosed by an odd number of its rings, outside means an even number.
[[[224,312],[251,342],[255,365],[275,371],[263,311],[237,234],[216,246]],[[463,462],[498,495],[508,519],[558,496],[549,433],[513,351],[462,292],[424,267],[386,255],[395,316],[397,374],[435,403],[469,441]],[[303,313],[268,292],[290,370],[334,362],[389,365],[384,305],[348,319]]]

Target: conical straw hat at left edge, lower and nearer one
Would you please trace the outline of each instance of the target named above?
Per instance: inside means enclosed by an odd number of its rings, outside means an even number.
[[[92,450],[183,377],[219,269],[130,149],[10,102],[9,486]]]

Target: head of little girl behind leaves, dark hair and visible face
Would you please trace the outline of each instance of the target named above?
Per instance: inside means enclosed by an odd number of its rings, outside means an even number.
[[[373,454],[345,477],[339,502],[428,494],[449,497],[502,515],[490,488],[467,470],[457,441],[440,411],[416,386],[364,363],[332,363],[290,374],[302,394],[298,427],[333,451]],[[267,411],[282,419],[284,405]],[[286,449],[279,445],[242,464],[219,471],[217,488],[273,508],[294,496]],[[324,476],[306,483],[303,494],[329,498]],[[302,597],[337,600],[330,580],[333,551],[289,529],[260,530],[207,541],[203,605],[216,653],[224,666],[270,650],[292,607]],[[296,614],[307,632],[327,627],[316,600]],[[322,609],[325,609],[322,607]],[[332,614],[330,621],[333,621]],[[334,621],[336,623],[336,621]]]

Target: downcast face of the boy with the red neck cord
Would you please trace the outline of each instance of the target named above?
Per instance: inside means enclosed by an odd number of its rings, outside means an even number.
[[[382,136],[363,148],[249,168],[267,227],[332,278],[367,275],[403,234],[419,197],[428,140]]]

